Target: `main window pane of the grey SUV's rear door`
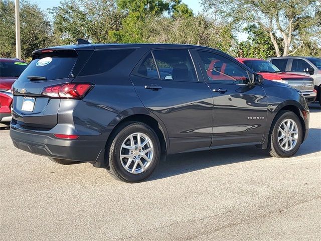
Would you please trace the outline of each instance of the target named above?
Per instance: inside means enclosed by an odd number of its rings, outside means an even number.
[[[197,82],[196,71],[188,50],[152,51],[162,79]]]

